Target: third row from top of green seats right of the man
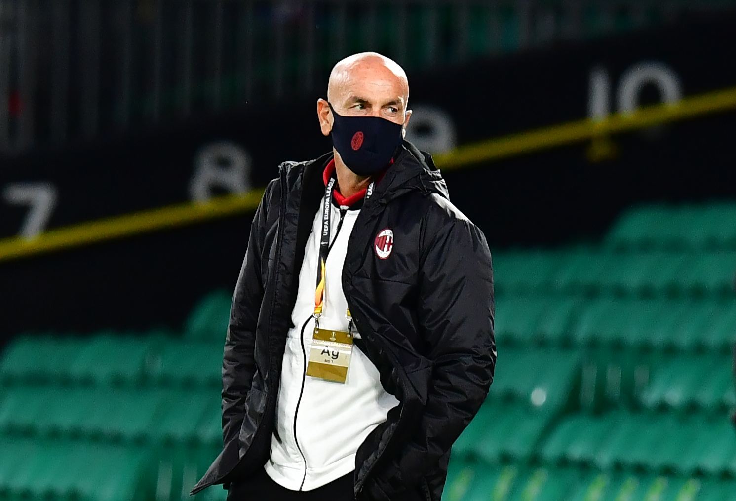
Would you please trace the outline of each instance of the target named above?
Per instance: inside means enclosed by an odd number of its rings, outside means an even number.
[[[519,347],[728,353],[736,336],[736,301],[499,295],[495,330],[500,344]]]

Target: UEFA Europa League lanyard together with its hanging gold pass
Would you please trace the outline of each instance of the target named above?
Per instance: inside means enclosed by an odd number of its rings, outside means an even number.
[[[366,199],[373,193],[375,182],[371,182],[366,190]],[[307,375],[319,377],[336,383],[347,380],[347,368],[353,354],[353,316],[347,309],[347,332],[319,328],[319,317],[325,308],[325,262],[330,253],[330,216],[332,214],[332,191],[335,178],[325,187],[325,205],[322,207],[322,236],[319,241],[319,263],[317,263],[317,285],[314,291],[314,335],[309,350]]]

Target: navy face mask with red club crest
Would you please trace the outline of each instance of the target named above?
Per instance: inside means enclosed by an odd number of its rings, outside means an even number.
[[[403,139],[401,124],[378,116],[338,115],[332,104],[330,110],[335,119],[332,144],[347,168],[358,176],[371,176],[389,165]]]

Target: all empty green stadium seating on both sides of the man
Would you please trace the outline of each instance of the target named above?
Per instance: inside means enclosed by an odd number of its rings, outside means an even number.
[[[736,224],[709,219],[732,209],[637,209],[601,245],[494,253],[495,381],[443,500],[736,501]],[[0,498],[188,499],[222,446],[230,301],[208,294],[181,333],[10,343]],[[98,488],[94,458],[126,466]]]

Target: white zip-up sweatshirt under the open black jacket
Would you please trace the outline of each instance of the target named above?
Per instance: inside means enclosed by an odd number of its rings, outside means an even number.
[[[341,212],[344,216],[338,232]],[[341,210],[332,204],[333,246],[325,263],[325,306],[319,319],[319,327],[324,329],[347,331],[342,266],[358,213],[360,210]],[[386,420],[389,409],[398,404],[383,389],[378,369],[356,346],[345,383],[305,375],[314,331],[312,314],[321,227],[322,213],[318,210],[299,274],[297,302],[291,313],[294,327],[286,338],[276,430],[271,438],[271,458],[266,463],[269,477],[294,491],[310,491],[352,472],[358,447]],[[355,333],[355,337],[360,335]]]

